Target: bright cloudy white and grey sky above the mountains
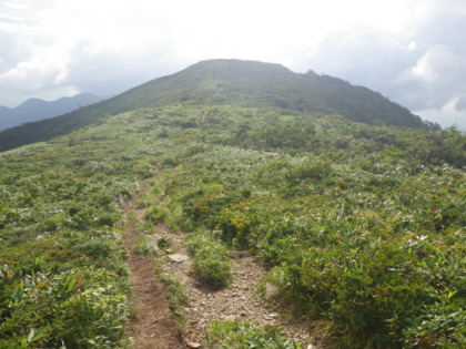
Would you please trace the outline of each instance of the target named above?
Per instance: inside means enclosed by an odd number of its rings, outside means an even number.
[[[0,0],[0,105],[109,96],[200,60],[313,70],[466,130],[465,0]]]

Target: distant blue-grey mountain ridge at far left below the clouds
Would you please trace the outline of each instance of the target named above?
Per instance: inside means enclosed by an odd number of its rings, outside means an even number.
[[[81,106],[100,101],[101,99],[92,93],[81,93],[72,97],[61,97],[51,102],[29,99],[16,107],[0,106],[0,130],[63,115]]]

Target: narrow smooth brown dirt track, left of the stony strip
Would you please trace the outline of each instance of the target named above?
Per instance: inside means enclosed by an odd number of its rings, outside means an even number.
[[[131,271],[132,291],[138,309],[136,318],[129,329],[129,336],[138,349],[176,349],[182,345],[181,333],[170,317],[170,302],[165,290],[156,278],[152,260],[135,252],[136,230],[129,217],[135,212],[135,203],[144,192],[144,183],[140,183],[140,192],[125,206],[126,225],[124,247],[128,250],[128,267]]]

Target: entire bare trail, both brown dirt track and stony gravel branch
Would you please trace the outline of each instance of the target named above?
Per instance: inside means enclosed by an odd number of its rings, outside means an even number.
[[[159,176],[160,173],[155,179]],[[134,212],[139,219],[144,219],[144,211],[138,209],[135,204],[143,192],[144,183],[141,183],[139,194],[125,207],[125,247],[138,307],[138,319],[130,332],[134,338],[134,348],[205,348],[204,338],[211,324],[233,319],[244,319],[261,327],[277,325],[290,338],[301,342],[303,349],[317,348],[313,345],[315,340],[308,328],[287,320],[257,295],[257,286],[263,283],[265,270],[255,257],[231,252],[232,284],[222,290],[211,291],[199,285],[190,274],[191,260],[184,245],[184,234],[171,232],[164,224],[159,224],[148,236],[148,243],[156,246],[161,237],[170,239],[170,252],[156,258],[163,258],[162,271],[178,280],[189,298],[183,308],[185,326],[182,330],[176,328],[170,317],[170,304],[156,278],[153,261],[134,249],[136,230],[128,213]],[[161,197],[158,198],[161,202]]]

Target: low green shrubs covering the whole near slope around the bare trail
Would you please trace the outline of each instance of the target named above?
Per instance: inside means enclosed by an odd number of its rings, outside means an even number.
[[[121,207],[158,165],[138,205],[191,233],[206,285],[227,285],[225,246],[249,249],[341,347],[466,345],[464,133],[190,101],[0,154],[0,348],[124,346]],[[216,326],[219,348],[286,341]]]

